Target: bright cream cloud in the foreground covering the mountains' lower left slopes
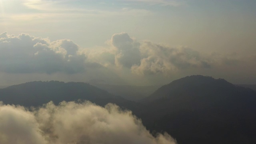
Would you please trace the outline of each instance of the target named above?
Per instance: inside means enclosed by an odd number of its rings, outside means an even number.
[[[130,111],[84,102],[52,102],[29,111],[0,104],[1,144],[176,144],[153,137]]]

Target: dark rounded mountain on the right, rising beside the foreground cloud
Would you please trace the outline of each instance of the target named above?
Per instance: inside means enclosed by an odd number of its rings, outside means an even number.
[[[179,144],[256,144],[256,92],[210,76],[187,76],[140,101],[152,132]]]

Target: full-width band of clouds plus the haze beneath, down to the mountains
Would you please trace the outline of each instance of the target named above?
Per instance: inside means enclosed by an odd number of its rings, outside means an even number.
[[[202,54],[189,47],[138,41],[125,32],[114,34],[105,46],[93,48],[81,48],[67,39],[51,42],[29,34],[0,34],[0,76],[8,77],[8,82],[22,74],[26,79],[22,82],[40,76],[39,80],[67,81],[65,77],[72,76],[68,81],[97,79],[107,84],[154,85],[191,74],[223,77],[231,82],[246,75],[253,82],[255,60],[253,53]],[[26,74],[35,74],[35,78]]]

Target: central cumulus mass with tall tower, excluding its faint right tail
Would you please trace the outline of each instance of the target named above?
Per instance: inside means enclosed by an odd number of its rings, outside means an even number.
[[[109,44],[112,46],[109,49],[88,52],[88,58],[96,59],[104,66],[114,63],[117,67],[128,68],[133,74],[139,75],[168,76],[179,70],[211,67],[211,61],[196,50],[182,46],[172,48],[149,41],[138,42],[125,32],[114,34]]]

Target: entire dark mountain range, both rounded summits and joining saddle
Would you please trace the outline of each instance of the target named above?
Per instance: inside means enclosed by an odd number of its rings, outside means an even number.
[[[224,79],[187,76],[140,103],[82,82],[28,82],[0,89],[5,104],[41,106],[79,99],[130,109],[153,134],[168,132],[178,144],[256,144],[256,91]]]

